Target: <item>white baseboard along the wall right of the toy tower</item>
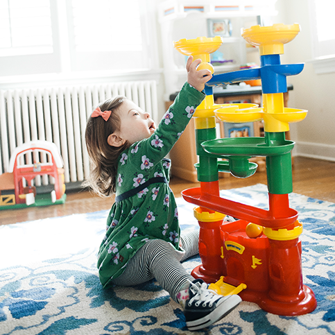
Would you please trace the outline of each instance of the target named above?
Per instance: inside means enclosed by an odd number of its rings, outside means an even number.
[[[294,155],[335,162],[335,146],[331,144],[296,141]]]

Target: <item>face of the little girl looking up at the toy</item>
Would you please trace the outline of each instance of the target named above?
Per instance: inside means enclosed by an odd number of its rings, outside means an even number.
[[[156,126],[150,114],[144,112],[130,100],[125,100],[117,109],[117,113],[121,119],[121,128],[117,135],[130,144],[141,139],[147,139],[153,135]]]

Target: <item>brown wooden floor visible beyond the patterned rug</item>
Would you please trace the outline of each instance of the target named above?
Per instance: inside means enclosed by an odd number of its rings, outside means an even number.
[[[266,184],[266,172],[257,172],[246,179],[232,176],[221,178],[220,188],[234,189],[257,183]],[[170,186],[175,196],[179,197],[180,191],[189,187],[196,187],[198,183],[171,178]],[[295,157],[293,164],[293,192],[335,203],[335,162]],[[99,198],[90,194],[89,191],[67,192],[67,200],[62,205],[0,211],[0,225],[33,221],[40,218],[96,212],[110,209],[113,202],[114,196],[111,198]]]

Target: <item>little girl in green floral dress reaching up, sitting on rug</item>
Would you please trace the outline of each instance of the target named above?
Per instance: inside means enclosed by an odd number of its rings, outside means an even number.
[[[92,163],[86,185],[102,196],[116,195],[98,252],[101,284],[132,286],[155,277],[182,306],[190,330],[212,325],[241,302],[238,295],[208,290],[180,264],[198,253],[198,232],[180,237],[164,157],[205,98],[212,74],[197,71],[199,64],[187,60],[187,83],[157,128],[147,112],[118,96],[94,110],[85,134]]]

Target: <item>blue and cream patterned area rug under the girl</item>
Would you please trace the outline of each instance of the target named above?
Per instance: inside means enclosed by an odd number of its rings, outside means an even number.
[[[266,208],[263,184],[221,191]],[[223,320],[189,332],[178,304],[155,281],[103,290],[96,252],[107,211],[0,227],[0,334],[335,334],[335,204],[290,195],[300,213],[304,284],[318,307],[298,317],[277,316],[241,302]],[[198,229],[194,205],[178,198],[182,230]],[[194,257],[184,263],[191,271]]]

